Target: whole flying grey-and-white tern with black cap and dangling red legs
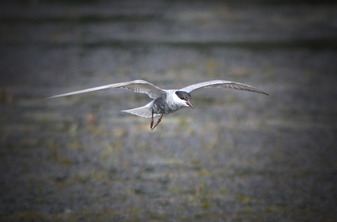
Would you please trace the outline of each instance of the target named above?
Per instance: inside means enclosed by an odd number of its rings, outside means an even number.
[[[250,92],[258,92],[258,93],[263,93],[263,94],[268,95],[266,92],[259,90],[257,88],[254,88],[252,86],[248,86],[246,84],[242,84],[238,82],[226,81],[226,80],[213,80],[213,81],[201,82],[201,83],[193,84],[190,86],[186,86],[178,90],[177,89],[168,89],[168,90],[161,89],[147,81],[134,80],[130,82],[115,83],[115,84],[98,86],[98,87],[84,89],[84,90],[75,91],[75,92],[69,92],[69,93],[60,94],[60,95],[54,95],[46,99],[79,94],[83,92],[90,92],[90,91],[106,89],[106,88],[121,88],[121,89],[128,89],[134,92],[146,93],[150,96],[150,98],[154,100],[145,106],[135,108],[135,109],[123,110],[122,112],[127,112],[133,115],[151,118],[150,128],[151,130],[153,130],[159,124],[159,122],[163,118],[163,115],[174,113],[185,106],[191,107],[194,110],[194,107],[191,103],[192,96],[190,92],[195,89],[203,88],[203,87],[231,88],[231,89],[239,89],[239,90],[245,90],[245,91],[250,91]],[[157,123],[153,126],[153,117],[158,116],[158,115],[161,115],[161,116],[159,117]]]

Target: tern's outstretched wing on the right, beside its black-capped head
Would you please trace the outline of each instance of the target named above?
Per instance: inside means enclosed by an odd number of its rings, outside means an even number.
[[[246,84],[238,83],[238,82],[232,82],[232,81],[226,81],[226,80],[213,80],[208,82],[201,82],[194,85],[187,86],[185,88],[179,89],[179,91],[185,91],[185,92],[191,92],[194,89],[202,88],[202,87],[210,87],[210,88],[231,88],[231,89],[239,89],[239,90],[246,90],[250,92],[259,92],[268,95],[268,93],[265,93],[262,90],[259,90],[257,88],[248,86]]]

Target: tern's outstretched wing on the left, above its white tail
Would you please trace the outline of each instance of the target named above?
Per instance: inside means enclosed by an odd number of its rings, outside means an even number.
[[[134,92],[140,92],[140,93],[146,93],[148,94],[151,98],[158,98],[162,96],[165,91],[161,88],[158,88],[157,86],[153,85],[152,83],[149,83],[144,80],[135,80],[131,82],[122,82],[122,83],[116,83],[116,84],[111,84],[111,85],[106,85],[106,86],[98,86],[90,89],[84,89],[76,92],[69,92],[65,94],[60,94],[60,95],[53,95],[51,97],[48,97],[47,99],[51,98],[56,98],[56,97],[61,97],[61,96],[67,96],[67,95],[73,95],[73,94],[79,94],[83,92],[90,92],[90,91],[95,91],[99,89],[106,89],[106,88],[121,88],[121,89],[128,89]]]

